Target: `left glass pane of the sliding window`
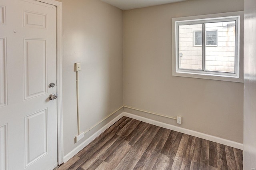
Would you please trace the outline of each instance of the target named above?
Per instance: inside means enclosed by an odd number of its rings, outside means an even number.
[[[178,40],[179,69],[202,70],[202,24],[180,25]]]

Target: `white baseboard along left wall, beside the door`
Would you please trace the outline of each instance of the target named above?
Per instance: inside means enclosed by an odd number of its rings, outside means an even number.
[[[92,136],[90,136],[88,139],[84,140],[80,145],[78,145],[76,148],[74,148],[71,152],[66,154],[63,158],[64,163],[70,160],[74,155],[76,155],[80,150],[82,150],[85,146],[87,146],[92,140],[94,140],[96,137],[98,137],[102,132],[107,130],[109,127],[111,127],[114,123],[116,123],[119,119],[123,117],[123,114],[119,114],[117,117],[112,119],[108,124],[106,124],[104,127],[100,128],[97,132],[95,132]]]

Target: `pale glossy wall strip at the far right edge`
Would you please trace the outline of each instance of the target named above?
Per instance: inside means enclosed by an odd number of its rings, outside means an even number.
[[[244,1],[244,170],[256,169],[256,1]]]

